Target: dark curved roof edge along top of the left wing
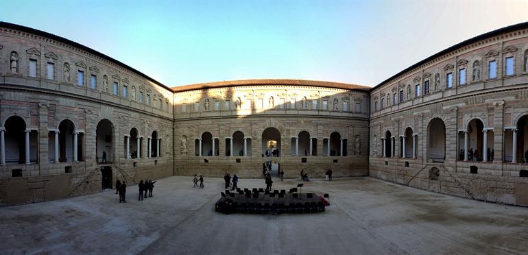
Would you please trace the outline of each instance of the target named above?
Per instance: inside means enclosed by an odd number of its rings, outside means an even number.
[[[16,25],[16,24],[13,24],[13,23],[8,23],[8,22],[3,22],[3,21],[0,21],[0,27],[20,30],[20,31],[23,31],[23,32],[31,33],[31,34],[36,34],[38,36],[43,36],[43,37],[46,37],[46,38],[50,38],[50,39],[53,39],[53,40],[58,40],[59,42],[64,42],[67,45],[71,45],[73,47],[77,47],[77,48],[82,49],[84,51],[88,51],[89,53],[92,53],[95,56],[99,56],[101,58],[104,58],[104,59],[106,59],[106,60],[108,60],[110,62],[115,62],[116,64],[118,64],[120,66],[123,66],[125,69],[129,69],[130,71],[132,71],[132,72],[144,77],[145,79],[150,80],[151,82],[154,82],[155,84],[158,84],[159,86],[162,86],[163,88],[166,88],[169,91],[172,91],[172,89],[169,88],[169,86],[166,86],[165,84],[152,79],[152,77],[149,77],[148,75],[145,75],[145,73],[141,73],[140,71],[137,71],[136,69],[128,66],[128,64],[124,64],[123,62],[121,62],[119,60],[115,60],[114,58],[110,58],[109,56],[106,56],[105,54],[103,54],[103,53],[101,53],[99,51],[96,51],[95,49],[88,48],[88,47],[86,47],[86,46],[84,46],[84,45],[82,45],[82,44],[80,44],[78,42],[74,42],[73,40],[68,40],[67,38],[64,38],[64,37],[61,37],[61,36],[56,36],[54,34],[50,34],[48,32],[44,32],[44,31],[41,31],[41,30],[38,30],[38,29],[34,29],[34,28],[31,28],[31,27],[25,27],[23,25]]]

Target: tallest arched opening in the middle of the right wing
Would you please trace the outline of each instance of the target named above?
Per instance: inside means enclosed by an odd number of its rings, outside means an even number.
[[[427,125],[427,159],[444,162],[446,159],[446,125],[440,118],[429,121]]]

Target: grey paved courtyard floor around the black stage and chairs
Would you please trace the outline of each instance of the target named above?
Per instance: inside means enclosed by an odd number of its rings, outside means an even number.
[[[222,215],[223,180],[158,180],[154,197],[113,191],[0,208],[0,253],[51,254],[522,254],[528,208],[411,189],[372,178],[306,182],[329,193],[326,213]],[[286,189],[298,180],[280,182]],[[263,180],[239,182],[264,187]]]

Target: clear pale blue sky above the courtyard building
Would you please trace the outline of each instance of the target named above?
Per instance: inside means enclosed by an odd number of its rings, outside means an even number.
[[[528,21],[525,1],[10,1],[0,21],[62,36],[167,86],[301,79],[376,86]]]

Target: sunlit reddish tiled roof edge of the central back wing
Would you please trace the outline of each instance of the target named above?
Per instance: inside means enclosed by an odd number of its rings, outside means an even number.
[[[207,82],[200,84],[189,84],[184,86],[173,87],[174,93],[180,93],[191,90],[203,90],[209,88],[228,88],[239,86],[255,86],[255,85],[292,85],[292,86],[313,86],[325,88],[340,88],[346,90],[356,90],[362,92],[370,91],[370,86],[363,86],[357,84],[347,84],[341,82],[324,82],[316,80],[294,80],[294,79],[252,79],[252,80],[230,80],[222,82]]]

